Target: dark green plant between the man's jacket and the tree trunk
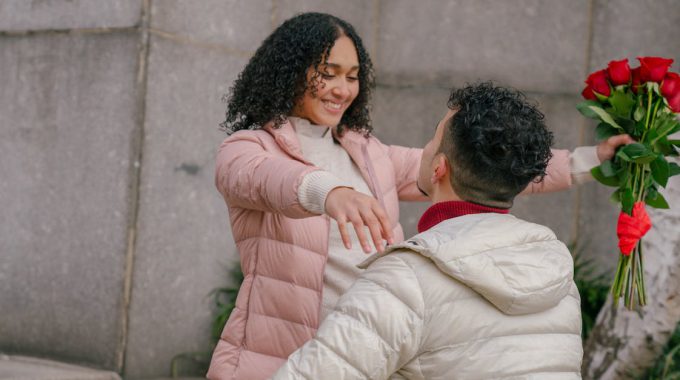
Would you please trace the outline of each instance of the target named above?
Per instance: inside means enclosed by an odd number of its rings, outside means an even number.
[[[579,252],[574,256],[574,282],[581,295],[581,336],[585,342],[595,325],[595,319],[609,294],[607,274],[596,271],[592,260],[586,259]]]

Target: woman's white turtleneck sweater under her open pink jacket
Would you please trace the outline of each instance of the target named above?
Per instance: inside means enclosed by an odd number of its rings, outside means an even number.
[[[300,203],[307,210],[324,213],[328,193],[336,187],[351,187],[373,196],[359,168],[347,151],[333,141],[331,131],[323,126],[311,124],[306,119],[290,118],[300,140],[302,154],[311,163],[323,169],[305,176],[298,189]],[[361,269],[356,265],[366,259],[359,239],[352,226],[348,226],[352,238],[352,249],[345,248],[338,230],[338,223],[330,219],[328,237],[328,261],[324,271],[323,302],[321,320],[333,309],[340,296],[359,277]],[[366,230],[367,236],[370,236]]]

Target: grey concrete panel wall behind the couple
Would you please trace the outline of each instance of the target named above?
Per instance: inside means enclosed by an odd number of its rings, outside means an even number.
[[[395,144],[424,144],[448,89],[477,79],[536,99],[558,147],[591,143],[588,72],[680,59],[675,0],[1,0],[0,351],[149,378],[210,349],[207,294],[237,258],[213,184],[220,98],[311,10],[363,37],[376,135]],[[591,184],[513,212],[609,268],[607,198]],[[425,207],[403,205],[407,235]]]

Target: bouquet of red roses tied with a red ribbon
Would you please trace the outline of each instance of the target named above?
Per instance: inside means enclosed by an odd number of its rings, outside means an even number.
[[[647,302],[641,239],[652,225],[645,204],[668,208],[659,188],[680,174],[680,166],[666,160],[679,155],[680,140],[668,136],[680,131],[680,75],[669,71],[672,59],[638,60],[634,69],[623,59],[590,74],[582,92],[587,100],[576,106],[599,121],[598,139],[626,133],[637,141],[591,171],[597,181],[616,188],[611,199],[621,205],[616,229],[621,255],[612,294],[615,304],[624,297],[628,309],[635,308],[636,299],[640,306]]]

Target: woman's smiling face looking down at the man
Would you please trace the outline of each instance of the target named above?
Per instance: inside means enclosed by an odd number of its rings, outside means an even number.
[[[359,57],[347,36],[335,40],[328,57],[319,64],[315,91],[307,89],[295,106],[293,116],[316,125],[335,127],[359,93]],[[317,75],[314,67],[307,70],[307,83]]]

